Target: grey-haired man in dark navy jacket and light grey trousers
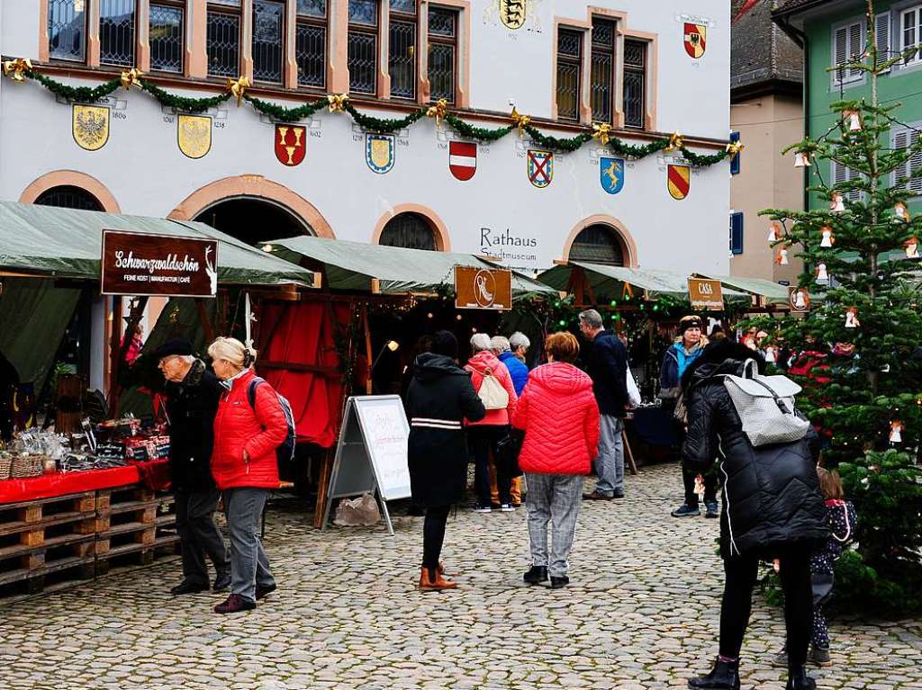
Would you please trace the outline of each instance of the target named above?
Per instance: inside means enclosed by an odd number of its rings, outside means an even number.
[[[596,488],[583,497],[587,500],[611,500],[624,497],[624,444],[621,431],[628,405],[628,351],[621,340],[602,324],[597,310],[579,315],[580,332],[592,347],[586,357],[586,373],[592,378],[596,393],[599,421]]]

